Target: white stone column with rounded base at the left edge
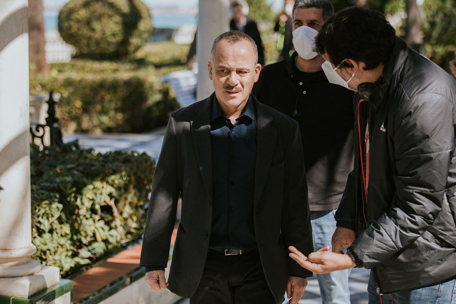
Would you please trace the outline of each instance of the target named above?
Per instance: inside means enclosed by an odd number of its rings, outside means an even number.
[[[0,1],[0,295],[28,297],[59,282],[30,258],[28,0]]]

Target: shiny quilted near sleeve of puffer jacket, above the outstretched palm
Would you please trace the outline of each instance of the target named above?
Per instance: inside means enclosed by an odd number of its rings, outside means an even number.
[[[351,250],[373,268],[415,242],[442,208],[454,148],[453,104],[421,93],[394,115],[394,197],[385,212],[353,242]]]

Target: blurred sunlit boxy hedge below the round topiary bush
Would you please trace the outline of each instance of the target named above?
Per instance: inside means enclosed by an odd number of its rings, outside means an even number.
[[[61,93],[57,116],[65,132],[145,132],[166,125],[179,108],[160,77],[186,69],[189,46],[148,43],[121,61],[73,58],[52,63],[50,77],[30,75],[30,93]]]

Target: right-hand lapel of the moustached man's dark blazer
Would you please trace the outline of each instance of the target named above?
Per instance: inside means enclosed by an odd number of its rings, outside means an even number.
[[[254,101],[256,108],[258,138],[254,191],[254,206],[256,206],[261,194],[263,193],[266,181],[268,180],[269,168],[275,151],[275,142],[277,140],[277,129],[271,126],[271,122],[274,119],[269,111],[267,111],[266,106],[259,103],[256,98],[254,98]]]

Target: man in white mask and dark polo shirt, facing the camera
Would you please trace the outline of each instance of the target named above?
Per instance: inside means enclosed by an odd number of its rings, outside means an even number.
[[[312,236],[316,250],[331,246],[334,214],[347,174],[353,169],[353,95],[328,82],[314,52],[314,39],[334,13],[329,0],[297,0],[293,7],[296,52],[261,70],[252,93],[258,100],[296,119],[305,147]],[[350,303],[349,270],[318,275],[324,304]]]

